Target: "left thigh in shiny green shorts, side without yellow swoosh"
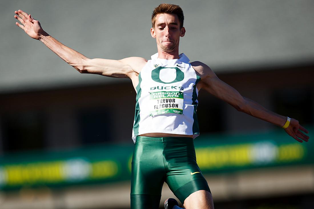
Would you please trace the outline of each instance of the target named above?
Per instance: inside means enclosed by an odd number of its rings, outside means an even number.
[[[160,142],[138,140],[135,143],[131,174],[131,208],[158,208],[165,180],[163,147]]]

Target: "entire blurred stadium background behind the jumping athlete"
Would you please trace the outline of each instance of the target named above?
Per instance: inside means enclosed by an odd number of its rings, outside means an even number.
[[[129,208],[133,151],[131,81],[78,73],[19,29],[14,10],[89,58],[149,59],[160,3],[0,2],[1,209]],[[200,91],[195,146],[215,208],[314,208],[314,2],[171,3],[185,13],[180,52],[310,131],[310,142],[298,143]],[[165,184],[161,208],[168,197]]]

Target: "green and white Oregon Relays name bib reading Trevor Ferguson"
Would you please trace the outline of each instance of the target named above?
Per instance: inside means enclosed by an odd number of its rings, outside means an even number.
[[[183,113],[183,93],[181,91],[150,92],[149,97],[150,116]]]

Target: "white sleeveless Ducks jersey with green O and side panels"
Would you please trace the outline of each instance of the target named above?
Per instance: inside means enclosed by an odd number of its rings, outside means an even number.
[[[180,59],[151,56],[138,75],[132,139],[145,133],[199,135],[196,109],[200,77],[183,53]]]

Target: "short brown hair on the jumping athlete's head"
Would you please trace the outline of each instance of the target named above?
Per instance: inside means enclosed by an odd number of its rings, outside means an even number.
[[[153,11],[152,14],[152,28],[155,27],[155,22],[156,22],[156,15],[157,14],[162,14],[162,13],[167,13],[167,14],[176,14],[179,18],[180,22],[180,28],[183,27],[183,20],[184,20],[184,15],[181,7],[175,4],[160,4],[158,7],[156,7]]]

